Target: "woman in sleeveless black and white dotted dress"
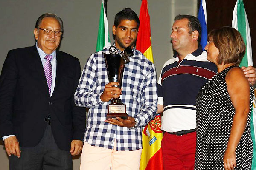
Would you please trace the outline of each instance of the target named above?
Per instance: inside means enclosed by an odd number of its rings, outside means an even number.
[[[245,54],[244,41],[236,29],[222,27],[209,33],[205,49],[218,74],[196,98],[195,170],[250,170],[253,87],[238,66]]]

